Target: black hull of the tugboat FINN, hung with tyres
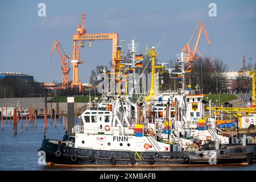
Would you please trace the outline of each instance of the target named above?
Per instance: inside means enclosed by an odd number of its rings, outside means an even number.
[[[63,146],[43,139],[40,151],[46,152],[46,162],[72,166],[172,166],[172,165],[218,165],[251,163],[254,146],[231,147],[221,150],[182,152],[134,152],[88,150]],[[57,154],[56,154],[57,152]],[[212,157],[216,152],[216,163]]]

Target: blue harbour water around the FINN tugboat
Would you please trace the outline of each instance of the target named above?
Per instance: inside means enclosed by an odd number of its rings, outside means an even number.
[[[80,119],[77,120],[80,123]],[[46,138],[62,139],[65,130],[63,123],[57,120],[57,127],[54,127],[54,121],[51,125],[47,121]],[[164,168],[65,168],[65,167],[47,167],[38,164],[38,149],[40,148],[44,136],[43,119],[38,119],[37,128],[28,125],[26,130],[26,120],[23,119],[23,131],[20,131],[20,121],[18,122],[17,135],[14,135],[13,123],[4,121],[4,129],[0,131],[0,170],[196,170],[196,171],[256,171],[256,163],[249,166],[232,167],[164,167]]]

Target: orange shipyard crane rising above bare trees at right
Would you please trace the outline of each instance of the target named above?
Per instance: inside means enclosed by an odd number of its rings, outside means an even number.
[[[190,42],[191,42],[193,36],[195,35],[197,27],[199,27],[199,26],[200,26],[200,29],[199,29],[199,33],[198,33],[197,38],[196,38],[196,43],[195,43],[194,49],[191,50],[190,49]],[[195,60],[198,59],[197,57],[195,57],[195,55],[196,55],[196,52],[198,52],[197,51],[197,46],[198,46],[202,31],[204,32],[204,36],[207,39],[207,43],[210,46],[210,40],[208,38],[208,34],[207,34],[207,31],[206,31],[206,26],[203,22],[201,22],[201,20],[199,20],[199,22],[197,23],[197,26],[196,26],[195,30],[193,31],[193,34],[192,34],[191,38],[189,39],[188,43],[181,49],[181,51],[185,52],[185,55],[186,55],[185,56],[185,61],[187,61],[189,65],[192,65],[193,62],[195,62]],[[212,63],[212,56],[210,56],[210,63]]]

